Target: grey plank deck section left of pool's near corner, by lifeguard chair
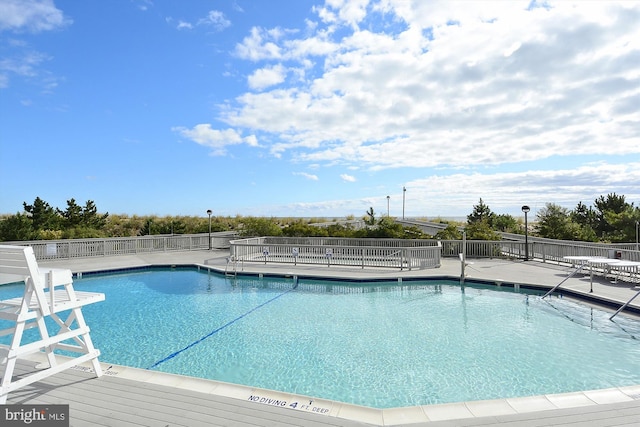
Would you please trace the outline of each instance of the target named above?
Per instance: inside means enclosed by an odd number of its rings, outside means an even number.
[[[33,369],[20,360],[16,374]],[[72,426],[367,426],[126,378],[67,370],[9,395],[7,403],[69,404]]]

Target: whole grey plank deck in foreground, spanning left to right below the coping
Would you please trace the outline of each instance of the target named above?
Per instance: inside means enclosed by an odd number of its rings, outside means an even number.
[[[34,370],[19,361],[16,375]],[[9,395],[9,404],[68,404],[71,426],[636,426],[637,400],[521,414],[420,423],[366,423],[247,402],[118,376],[67,370]],[[397,412],[394,410],[394,412]],[[380,411],[382,418],[384,411]],[[391,415],[391,414],[390,414]],[[398,414],[392,415],[396,418]]]

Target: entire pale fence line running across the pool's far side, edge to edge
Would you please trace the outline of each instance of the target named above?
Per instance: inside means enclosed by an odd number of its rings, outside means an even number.
[[[430,268],[440,265],[440,256],[469,258],[524,259],[524,240],[433,240],[433,239],[349,239],[340,237],[256,237],[237,239],[236,232],[211,233],[211,247],[230,248],[237,259],[255,260],[268,246],[267,261],[311,262],[398,268]],[[237,242],[232,245],[231,242]],[[241,242],[241,243],[240,243]],[[138,253],[192,251],[209,248],[208,233],[116,237],[108,239],[69,239],[2,242],[32,246],[38,260],[132,255]],[[565,256],[619,258],[640,262],[635,243],[587,243],[529,237],[529,259],[563,262]],[[243,247],[244,249],[241,249]],[[294,256],[293,249],[297,248]],[[331,249],[330,255],[327,250]],[[438,252],[437,261],[433,253]],[[304,260],[304,261],[303,261]]]

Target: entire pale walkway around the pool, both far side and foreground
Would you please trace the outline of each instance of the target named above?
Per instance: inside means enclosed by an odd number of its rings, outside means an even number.
[[[224,271],[227,251],[167,252],[104,258],[41,261],[40,265],[70,268],[74,272],[122,269],[147,265],[203,265]],[[567,279],[569,265],[537,261],[469,260],[467,279],[491,283],[517,283],[551,288]],[[458,259],[443,259],[437,269],[399,271],[326,265],[245,263],[238,273],[341,277],[345,279],[389,279],[460,276]],[[622,304],[638,291],[636,284],[613,278],[578,274],[561,289],[597,296]],[[593,292],[589,292],[593,286]],[[635,301],[634,307],[640,309]],[[615,308],[610,309],[611,312]],[[301,401],[294,396],[256,390],[216,381],[162,374],[142,369],[112,366],[102,362],[107,375],[92,378],[84,369],[66,371],[24,387],[9,395],[7,403],[70,404],[71,425],[635,425],[640,420],[640,385],[606,390],[515,399],[460,402],[394,409],[372,409],[311,399],[307,411],[276,403]],[[34,369],[34,360],[21,361],[20,372]],[[19,373],[19,372],[17,372]],[[256,399],[257,398],[257,399]],[[314,412],[313,408],[317,410]]]

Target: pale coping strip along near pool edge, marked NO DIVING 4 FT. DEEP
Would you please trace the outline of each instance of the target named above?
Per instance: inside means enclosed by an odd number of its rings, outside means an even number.
[[[65,358],[64,356],[58,357]],[[23,358],[23,360],[46,363],[47,359],[44,353],[36,353]],[[318,417],[329,416],[380,426],[518,415],[640,400],[640,385],[632,385],[569,393],[379,409],[295,393],[115,365],[103,361],[100,361],[100,366],[104,375],[113,378],[238,399],[248,404],[253,403],[257,408],[264,405],[279,406],[287,410],[313,413]],[[89,374],[95,373],[89,362],[75,365],[71,369]],[[250,397],[254,397],[254,399]],[[307,409],[290,407],[293,402],[306,401],[313,402],[312,405],[308,405],[310,407]],[[313,411],[314,408],[318,410]]]

